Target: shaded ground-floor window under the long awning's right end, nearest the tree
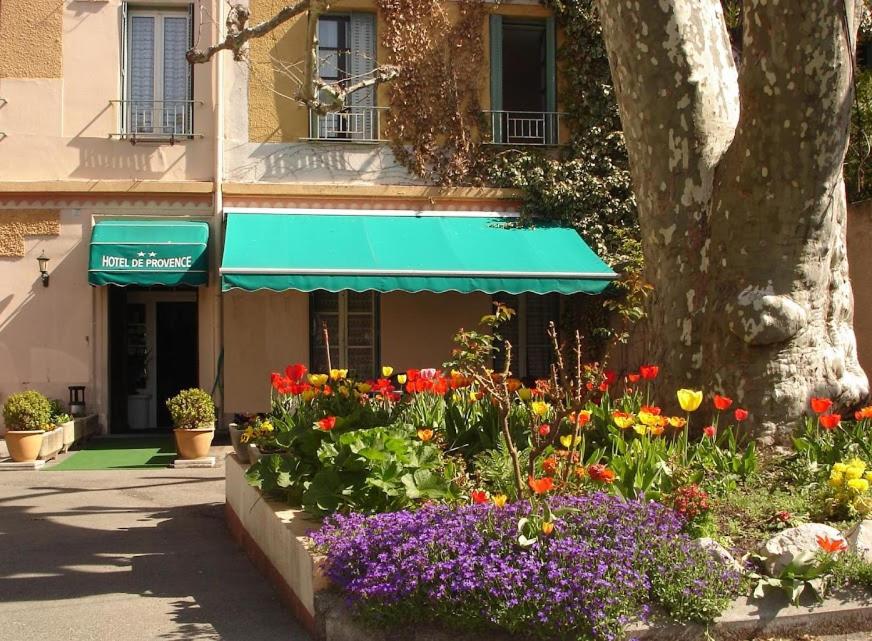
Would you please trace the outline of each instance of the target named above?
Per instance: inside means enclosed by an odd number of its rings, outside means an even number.
[[[560,299],[556,294],[498,294],[495,302],[514,309],[517,314],[500,329],[512,344],[512,375],[523,379],[547,378],[551,374],[552,348],[548,323],[558,322]],[[494,369],[505,367],[505,354],[494,357]]]

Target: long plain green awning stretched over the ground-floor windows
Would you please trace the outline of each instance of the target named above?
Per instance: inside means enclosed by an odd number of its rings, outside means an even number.
[[[598,294],[617,277],[565,227],[521,228],[496,214],[281,211],[227,212],[224,291]]]

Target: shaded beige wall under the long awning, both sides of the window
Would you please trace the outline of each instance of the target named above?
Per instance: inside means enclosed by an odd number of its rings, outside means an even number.
[[[382,294],[381,362],[396,370],[440,367],[457,330],[477,326],[490,301],[488,294]],[[270,372],[308,364],[308,317],[308,294],[224,295],[225,412],[266,411]]]

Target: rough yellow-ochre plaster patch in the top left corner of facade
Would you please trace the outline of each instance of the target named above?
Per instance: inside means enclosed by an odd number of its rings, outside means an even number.
[[[64,3],[0,2],[0,78],[60,78]]]

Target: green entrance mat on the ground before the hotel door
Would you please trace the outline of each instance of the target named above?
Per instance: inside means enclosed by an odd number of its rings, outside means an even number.
[[[171,437],[97,438],[46,472],[71,470],[138,470],[167,467],[176,459]]]

